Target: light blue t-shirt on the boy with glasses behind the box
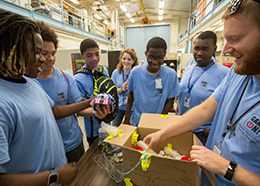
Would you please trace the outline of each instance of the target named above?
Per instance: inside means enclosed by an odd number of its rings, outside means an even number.
[[[147,64],[132,69],[128,80],[128,89],[134,95],[131,125],[138,125],[142,113],[162,113],[166,100],[179,95],[178,77],[172,68],[161,66],[159,78],[162,79],[161,90],[155,87],[158,77],[147,73]]]

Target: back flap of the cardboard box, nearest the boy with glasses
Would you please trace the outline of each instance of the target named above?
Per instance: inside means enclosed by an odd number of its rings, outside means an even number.
[[[139,121],[138,127],[162,129],[167,125],[177,121],[182,116],[168,115],[168,118],[162,118],[161,114],[147,114],[143,113]]]

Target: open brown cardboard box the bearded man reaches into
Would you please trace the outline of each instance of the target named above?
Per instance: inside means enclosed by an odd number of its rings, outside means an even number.
[[[123,130],[123,135],[111,140],[105,139],[105,142],[122,147],[123,167],[124,172],[127,172],[138,163],[141,157],[140,152],[133,149],[132,133],[137,131],[140,134],[140,139],[143,139],[146,135],[162,129],[180,117],[169,115],[168,118],[161,118],[160,114],[142,114],[138,127],[121,124],[119,128]],[[171,143],[174,150],[185,156],[189,156],[193,144],[201,144],[192,132],[187,132],[158,143],[154,150],[158,153],[167,143]],[[143,171],[141,165],[139,165],[126,177],[138,186],[200,185],[199,166],[196,162],[176,160],[160,155],[151,156],[151,164],[147,171]]]

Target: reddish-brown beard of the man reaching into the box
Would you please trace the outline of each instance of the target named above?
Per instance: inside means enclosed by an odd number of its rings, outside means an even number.
[[[238,66],[234,67],[237,74],[240,75],[259,75],[260,74],[260,39],[258,45],[249,50],[248,58],[244,60],[241,68]]]

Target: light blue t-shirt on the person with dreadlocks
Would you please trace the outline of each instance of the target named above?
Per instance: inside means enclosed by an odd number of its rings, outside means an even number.
[[[1,173],[37,173],[67,163],[53,103],[36,80],[25,79],[0,79]]]

